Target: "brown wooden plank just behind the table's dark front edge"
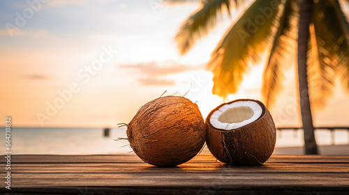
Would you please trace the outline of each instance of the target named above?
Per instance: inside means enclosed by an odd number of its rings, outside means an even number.
[[[348,187],[348,174],[338,173],[13,173],[13,187],[134,186],[205,187],[233,186],[327,186]],[[1,188],[4,184],[1,183]]]

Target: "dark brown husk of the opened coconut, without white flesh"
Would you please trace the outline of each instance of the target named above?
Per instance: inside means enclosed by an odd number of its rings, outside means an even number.
[[[240,100],[232,102],[236,101]],[[207,116],[207,147],[216,159],[225,164],[238,166],[260,165],[266,162],[274,151],[276,127],[272,115],[262,102],[258,100],[248,101],[257,102],[262,107],[260,118],[248,125],[232,130],[220,130],[211,125],[209,123],[211,114],[224,104],[212,110]]]

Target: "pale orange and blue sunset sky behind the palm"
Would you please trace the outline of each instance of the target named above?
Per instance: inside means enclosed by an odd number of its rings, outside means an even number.
[[[18,127],[117,127],[164,91],[188,92],[205,117],[222,102],[211,94],[205,63],[234,20],[181,56],[174,35],[198,8],[144,0],[1,1],[0,124],[12,116]],[[261,98],[262,65],[229,100]],[[299,126],[295,68],[287,75],[270,110],[276,125]],[[348,97],[338,84],[325,108],[313,109],[315,125],[348,126]]]

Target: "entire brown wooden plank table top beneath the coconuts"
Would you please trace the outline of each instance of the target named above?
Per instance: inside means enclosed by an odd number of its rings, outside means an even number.
[[[349,156],[273,155],[236,167],[198,155],[161,168],[135,155],[13,155],[11,189],[0,194],[349,194]]]

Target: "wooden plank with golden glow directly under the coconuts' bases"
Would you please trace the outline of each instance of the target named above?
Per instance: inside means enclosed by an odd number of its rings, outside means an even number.
[[[219,173],[229,170],[234,173],[349,173],[347,164],[293,164],[267,162],[262,166],[239,167],[218,163],[186,163],[177,168],[155,167],[146,163],[134,164],[12,164],[11,173]],[[5,166],[0,173],[6,173]]]

